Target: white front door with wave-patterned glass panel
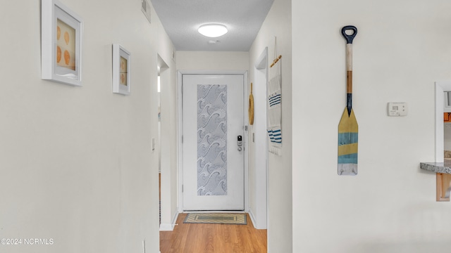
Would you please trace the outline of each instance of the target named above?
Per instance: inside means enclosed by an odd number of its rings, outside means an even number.
[[[243,74],[183,74],[185,211],[245,209],[244,84]]]

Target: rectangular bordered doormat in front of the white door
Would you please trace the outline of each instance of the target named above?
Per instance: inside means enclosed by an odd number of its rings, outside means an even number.
[[[187,214],[183,223],[209,223],[209,224],[236,224],[246,225],[246,214],[223,214],[223,213],[211,213],[211,214]]]

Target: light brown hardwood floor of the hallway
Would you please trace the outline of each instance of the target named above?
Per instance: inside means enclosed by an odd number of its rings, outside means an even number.
[[[161,253],[266,253],[266,229],[247,225],[183,223],[179,214],[173,231],[160,232]]]

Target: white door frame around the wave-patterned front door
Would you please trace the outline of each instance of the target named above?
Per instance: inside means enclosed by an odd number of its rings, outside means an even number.
[[[244,136],[243,136],[243,147],[245,152],[245,212],[249,210],[249,178],[248,178],[248,152],[249,152],[249,146],[248,146],[248,136],[249,136],[249,118],[246,117],[247,115],[247,108],[249,107],[249,100],[246,99],[247,91],[247,70],[178,70],[177,71],[177,103],[178,103],[178,110],[177,110],[177,117],[178,117],[178,145],[177,145],[177,151],[178,151],[178,212],[183,213],[183,192],[182,192],[182,186],[183,186],[183,143],[182,143],[182,136],[183,136],[183,74],[242,74],[243,76],[243,94],[242,99],[244,102],[243,107],[243,113],[245,115],[244,117],[244,124],[245,129]]]

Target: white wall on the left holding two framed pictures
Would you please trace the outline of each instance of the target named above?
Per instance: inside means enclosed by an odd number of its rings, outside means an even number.
[[[158,18],[140,0],[62,2],[84,20],[82,87],[41,79],[40,1],[0,9],[0,238],[54,239],[0,251],[159,252]],[[113,43],[131,96],[111,93]]]

